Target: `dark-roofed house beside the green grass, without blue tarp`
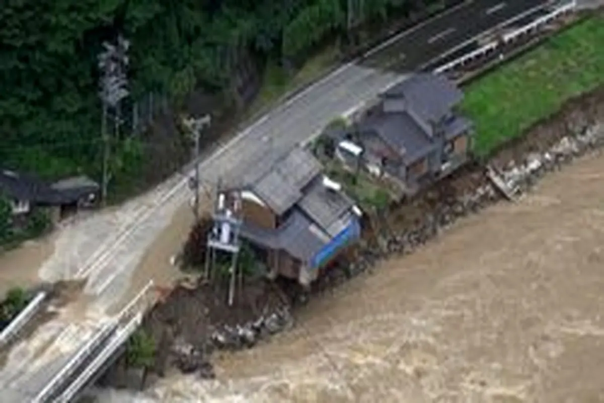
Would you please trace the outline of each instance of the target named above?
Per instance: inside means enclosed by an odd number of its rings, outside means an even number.
[[[462,99],[446,77],[413,74],[382,93],[377,108],[336,139],[336,155],[414,195],[468,160],[472,123],[455,111]]]

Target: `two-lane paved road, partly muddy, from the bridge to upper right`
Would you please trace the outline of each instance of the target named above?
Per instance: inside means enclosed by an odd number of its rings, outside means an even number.
[[[400,34],[246,129],[200,165],[202,178],[216,181],[227,171],[240,175],[259,164],[271,163],[295,144],[308,140],[333,117],[351,111],[402,80],[406,72],[541,3],[468,2]],[[182,179],[173,178],[118,211],[98,214],[70,228],[60,234],[56,252],[43,266],[42,275],[51,280],[86,276],[89,278],[86,291],[92,300],[102,301],[100,305],[118,300],[144,251],[189,197]],[[104,253],[98,253],[100,248],[106,248]],[[28,401],[28,396],[31,398],[50,379],[55,366],[85,343],[89,332],[101,320],[96,315],[100,312],[59,315],[11,352],[0,370],[0,388],[5,390],[2,401]],[[9,398],[12,394],[15,397]]]

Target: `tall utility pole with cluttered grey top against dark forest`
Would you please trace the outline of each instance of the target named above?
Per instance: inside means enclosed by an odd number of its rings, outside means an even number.
[[[129,40],[121,35],[117,38],[117,44],[103,42],[104,51],[98,55],[98,68],[101,70],[99,80],[99,97],[103,103],[103,120],[101,121],[101,139],[103,141],[103,183],[101,186],[101,198],[103,204],[107,200],[107,187],[109,184],[109,153],[111,152],[111,136],[108,132],[109,109],[114,112],[115,135],[120,127],[120,103],[130,93],[126,89],[126,68],[129,63],[127,56]]]

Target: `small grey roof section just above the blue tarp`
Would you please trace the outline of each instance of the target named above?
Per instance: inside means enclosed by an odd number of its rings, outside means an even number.
[[[344,193],[327,189],[323,185],[323,176],[318,176],[304,189],[304,197],[298,202],[298,207],[333,237],[342,230],[338,224],[339,218],[353,204]]]

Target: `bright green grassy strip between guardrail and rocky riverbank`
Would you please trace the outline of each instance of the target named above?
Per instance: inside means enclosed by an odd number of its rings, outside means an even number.
[[[604,84],[604,17],[594,16],[469,84],[461,109],[476,125],[475,153],[521,135],[566,100]]]

